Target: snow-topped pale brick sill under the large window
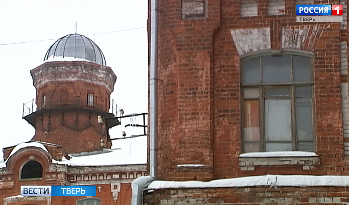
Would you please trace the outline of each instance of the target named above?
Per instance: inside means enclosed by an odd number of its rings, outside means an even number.
[[[255,166],[301,165],[303,170],[311,170],[320,165],[320,158],[314,152],[274,151],[252,152],[239,156],[241,171],[253,171]]]

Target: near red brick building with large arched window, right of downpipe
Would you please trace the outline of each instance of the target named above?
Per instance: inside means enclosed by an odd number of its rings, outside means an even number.
[[[343,21],[296,22],[298,4],[343,5]],[[157,180],[338,175],[341,183],[153,182],[146,204],[349,202],[347,1],[159,0],[158,7]]]

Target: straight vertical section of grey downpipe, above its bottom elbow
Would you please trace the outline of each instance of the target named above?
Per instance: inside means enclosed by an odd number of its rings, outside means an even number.
[[[151,0],[150,36],[150,176],[157,174],[157,0]]]

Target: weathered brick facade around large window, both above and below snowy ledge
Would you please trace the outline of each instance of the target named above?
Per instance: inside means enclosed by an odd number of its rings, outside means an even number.
[[[158,180],[349,175],[347,1],[202,2],[159,0]],[[296,22],[296,4],[341,4],[343,22]],[[191,8],[185,9],[185,5]],[[193,9],[195,5],[200,8]],[[183,11],[188,16],[188,12],[202,9],[206,16],[183,17]],[[242,59],[282,52],[312,56],[314,151],[318,156],[239,157],[243,153]],[[204,166],[178,166],[183,164]],[[246,189],[155,190],[146,193],[145,200],[147,204],[318,204],[347,200],[344,187],[243,191]]]

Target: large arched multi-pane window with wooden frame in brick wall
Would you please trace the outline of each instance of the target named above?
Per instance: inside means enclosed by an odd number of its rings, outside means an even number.
[[[242,60],[243,151],[314,151],[311,56]]]

